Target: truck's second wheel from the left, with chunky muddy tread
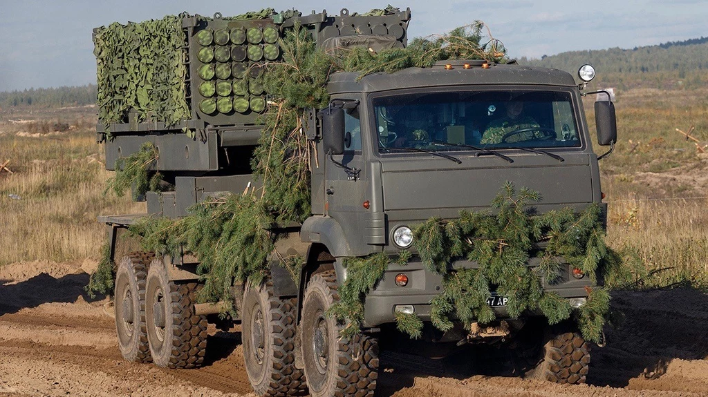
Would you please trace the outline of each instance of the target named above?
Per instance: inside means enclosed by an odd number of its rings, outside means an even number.
[[[169,281],[161,259],[147,273],[145,316],[152,360],[158,367],[195,368],[207,348],[207,317],[194,314],[202,285]]]

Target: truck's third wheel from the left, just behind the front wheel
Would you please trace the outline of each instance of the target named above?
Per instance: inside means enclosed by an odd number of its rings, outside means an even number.
[[[306,394],[304,373],[295,368],[297,298],[280,300],[267,280],[257,288],[246,285],[241,307],[241,340],[253,391],[271,397]]]

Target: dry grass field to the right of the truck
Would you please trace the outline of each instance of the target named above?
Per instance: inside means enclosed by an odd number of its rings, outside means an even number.
[[[586,104],[594,124],[592,104]],[[600,161],[609,203],[607,241],[630,249],[651,275],[635,286],[708,286],[708,89],[619,91],[619,142]],[[591,126],[594,131],[594,125]],[[602,147],[595,147],[597,153]]]

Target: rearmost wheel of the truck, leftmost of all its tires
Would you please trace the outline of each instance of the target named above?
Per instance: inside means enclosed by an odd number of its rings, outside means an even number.
[[[145,279],[152,252],[132,252],[120,259],[115,273],[115,331],[125,360],[151,362],[145,324]]]

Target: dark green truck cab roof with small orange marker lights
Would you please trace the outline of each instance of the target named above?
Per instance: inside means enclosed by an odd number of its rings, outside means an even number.
[[[518,64],[488,64],[489,67],[482,67],[481,64],[482,61],[441,61],[431,68],[413,67],[395,73],[372,73],[363,78],[358,72],[340,72],[331,76],[328,87],[331,94],[337,94],[474,84],[578,85],[570,73],[558,69]],[[447,68],[445,65],[448,65]]]

